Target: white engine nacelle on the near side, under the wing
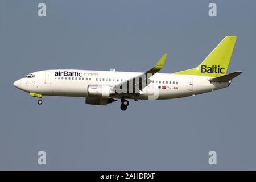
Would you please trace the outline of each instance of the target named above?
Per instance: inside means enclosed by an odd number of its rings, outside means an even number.
[[[108,98],[114,94],[114,90],[107,85],[88,85],[88,97]]]

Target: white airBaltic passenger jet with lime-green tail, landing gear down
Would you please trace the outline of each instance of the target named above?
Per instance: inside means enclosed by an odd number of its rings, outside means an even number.
[[[175,73],[158,73],[167,54],[146,72],[90,71],[74,69],[44,70],[26,75],[14,86],[30,96],[85,97],[85,103],[108,105],[121,100],[126,110],[128,100],[164,100],[195,96],[228,87],[241,71],[226,74],[236,36],[226,36],[216,48],[192,69]]]

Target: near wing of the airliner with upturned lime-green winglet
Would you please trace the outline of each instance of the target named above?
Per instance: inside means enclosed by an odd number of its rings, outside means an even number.
[[[163,68],[164,61],[166,60],[167,54],[164,54],[161,59],[156,63],[155,67],[151,68],[150,70],[142,73],[141,75],[138,75],[136,77],[130,78],[127,81],[123,81],[117,85],[115,85],[113,88],[115,89],[115,93],[123,93],[124,90],[126,90],[125,93],[133,93],[134,90],[142,90],[145,88],[148,84],[150,84],[151,80],[148,79],[151,76],[155,75],[155,73],[159,72],[160,69]],[[126,87],[126,89],[123,89]],[[129,90],[128,90],[129,89]],[[133,92],[131,92],[133,90]]]

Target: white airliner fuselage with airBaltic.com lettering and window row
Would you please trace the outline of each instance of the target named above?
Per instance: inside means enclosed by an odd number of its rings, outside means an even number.
[[[114,86],[142,73],[89,71],[89,70],[46,70],[31,73],[34,77],[25,77],[14,83],[25,91],[45,96],[87,97],[88,85]],[[194,96],[227,87],[230,82],[210,82],[205,76],[156,73],[139,95],[129,98],[142,100],[161,100]],[[118,95],[112,98],[120,98]]]

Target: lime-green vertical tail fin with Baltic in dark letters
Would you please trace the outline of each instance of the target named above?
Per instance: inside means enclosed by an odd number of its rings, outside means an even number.
[[[236,36],[226,36],[196,68],[187,69],[174,74],[210,77],[226,75],[236,39]]]

